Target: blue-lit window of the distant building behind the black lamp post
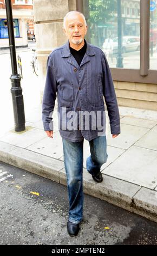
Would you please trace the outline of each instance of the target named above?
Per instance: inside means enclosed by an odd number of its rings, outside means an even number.
[[[19,26],[18,19],[13,20],[14,24],[14,36],[19,38]],[[6,19],[0,19],[0,39],[8,38],[8,25]]]

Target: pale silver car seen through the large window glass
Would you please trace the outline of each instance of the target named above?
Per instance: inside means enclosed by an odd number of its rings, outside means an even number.
[[[117,53],[118,38],[113,39],[113,53]],[[122,39],[122,53],[140,51],[140,37],[139,36],[123,36]]]

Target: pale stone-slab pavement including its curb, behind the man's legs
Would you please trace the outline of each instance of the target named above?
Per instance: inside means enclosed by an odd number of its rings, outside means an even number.
[[[157,222],[157,111],[121,106],[119,111],[121,135],[114,139],[107,116],[108,161],[101,167],[101,184],[86,170],[90,150],[84,140],[84,193]],[[0,127],[0,161],[67,185],[56,107],[53,118],[53,139],[43,131],[41,105],[27,113],[24,132],[15,132],[12,123],[8,131]]]

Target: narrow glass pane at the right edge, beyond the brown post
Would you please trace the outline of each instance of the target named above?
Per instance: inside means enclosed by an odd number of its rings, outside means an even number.
[[[157,70],[157,1],[150,8],[150,69]]]

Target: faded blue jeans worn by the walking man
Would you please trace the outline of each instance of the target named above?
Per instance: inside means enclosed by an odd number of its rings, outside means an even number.
[[[63,139],[64,166],[67,175],[69,196],[69,221],[80,223],[83,218],[83,141],[70,142]],[[87,170],[91,175],[99,173],[107,161],[106,136],[89,141],[90,156],[87,157]]]

